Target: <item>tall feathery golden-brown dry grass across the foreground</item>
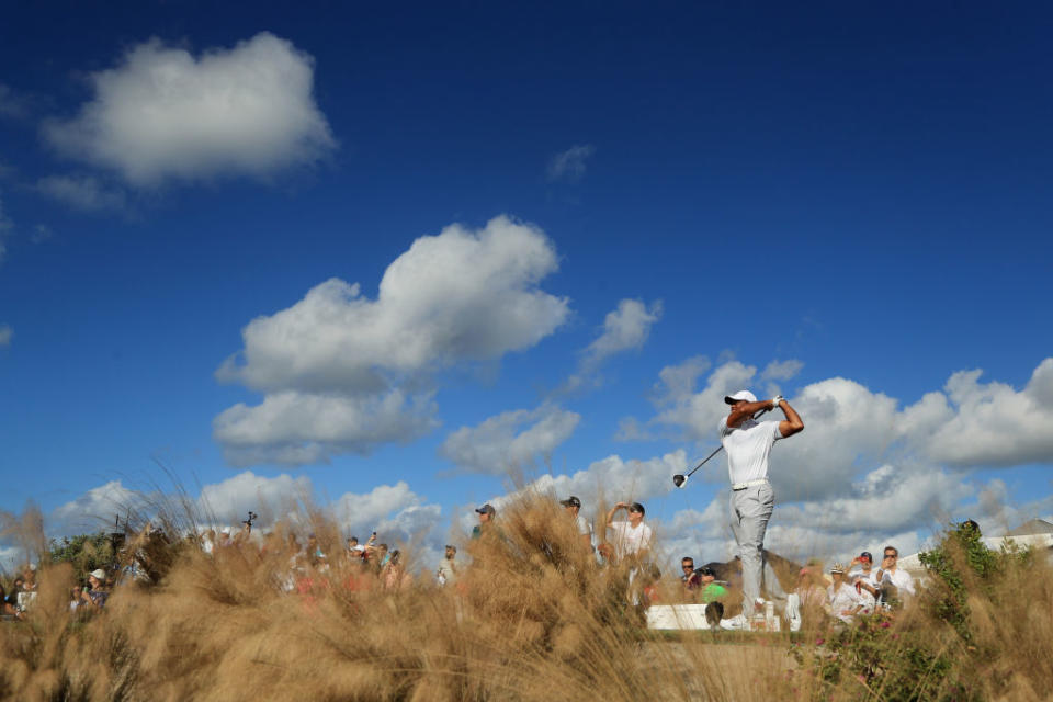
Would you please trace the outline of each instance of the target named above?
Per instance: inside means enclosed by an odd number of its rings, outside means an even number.
[[[308,566],[293,592],[282,587],[280,533],[263,552],[173,545],[159,585],[120,586],[84,620],[68,611],[75,574],[44,568],[29,620],[0,625],[0,698],[1028,700],[1053,689],[1053,573],[1041,562],[970,600],[967,644],[918,607],[836,649],[843,632],[816,620],[793,637],[647,631],[629,603],[626,566],[598,568],[563,510],[536,496],[465,544],[473,566],[448,588],[385,589],[335,555],[331,523],[310,523],[333,556],[327,571]],[[677,588],[665,582],[664,596]],[[918,675],[907,660],[919,642],[938,670]],[[841,657],[868,646],[883,667],[861,679]]]

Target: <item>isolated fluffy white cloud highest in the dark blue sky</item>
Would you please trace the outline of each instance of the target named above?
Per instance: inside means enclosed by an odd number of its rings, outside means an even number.
[[[44,137],[61,154],[144,186],[263,177],[336,146],[314,99],[314,59],[262,32],[200,56],[150,39],[89,76],[94,98]]]

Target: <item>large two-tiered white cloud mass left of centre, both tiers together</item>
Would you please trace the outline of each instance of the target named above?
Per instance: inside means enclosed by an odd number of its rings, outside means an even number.
[[[375,299],[321,283],[244,329],[244,351],[216,375],[267,396],[217,416],[215,439],[236,465],[295,465],[430,431],[434,404],[417,389],[429,374],[526,349],[563,325],[567,299],[539,286],[556,265],[543,231],[501,216],[417,239]]]

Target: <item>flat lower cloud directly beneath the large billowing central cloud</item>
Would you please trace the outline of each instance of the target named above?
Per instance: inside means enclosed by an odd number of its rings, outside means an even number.
[[[283,390],[256,407],[237,404],[213,420],[213,437],[233,465],[328,463],[341,453],[369,454],[406,443],[437,426],[429,397],[400,390],[342,397]]]

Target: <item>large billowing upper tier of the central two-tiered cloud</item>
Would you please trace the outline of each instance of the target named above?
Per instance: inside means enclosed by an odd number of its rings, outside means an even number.
[[[539,282],[557,268],[545,234],[500,216],[480,230],[451,225],[417,239],[387,268],[376,299],[332,279],[242,331],[244,363],[220,380],[256,389],[373,392],[380,373],[500,358],[564,324],[565,297]]]

